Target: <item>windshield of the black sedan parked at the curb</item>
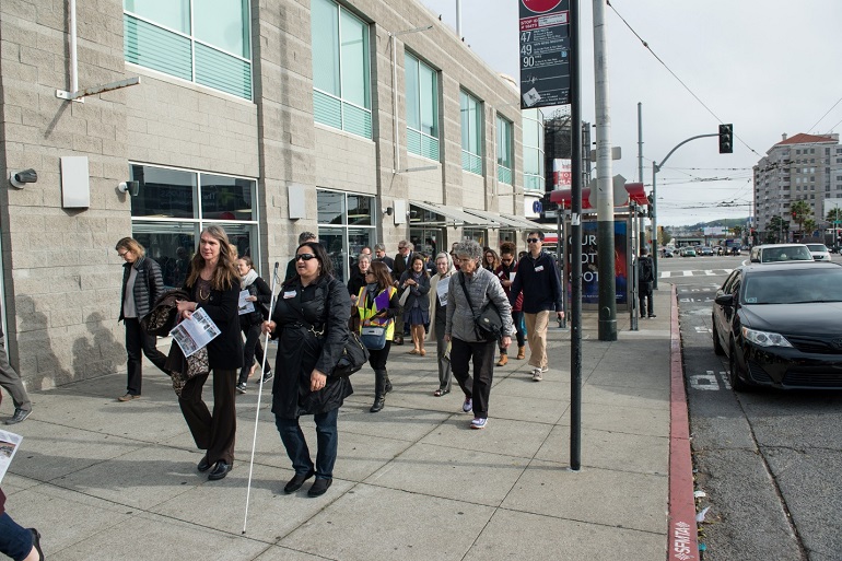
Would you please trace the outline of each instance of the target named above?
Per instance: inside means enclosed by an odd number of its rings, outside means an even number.
[[[842,267],[755,271],[742,282],[742,304],[842,302]]]

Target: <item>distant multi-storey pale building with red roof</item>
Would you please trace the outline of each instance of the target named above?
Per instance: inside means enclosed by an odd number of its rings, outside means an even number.
[[[842,147],[839,135],[805,135],[773,145],[755,165],[755,215],[760,242],[780,220],[792,221],[792,203],[805,201],[818,229],[825,227],[828,199],[842,198]],[[794,224],[790,231],[794,230]],[[785,237],[785,233],[784,233]],[[779,233],[780,238],[780,233]]]

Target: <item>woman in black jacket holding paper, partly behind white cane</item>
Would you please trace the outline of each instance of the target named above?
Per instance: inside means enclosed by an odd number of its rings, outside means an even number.
[[[260,346],[260,325],[266,319],[264,311],[272,301],[272,289],[264,279],[258,277],[250,257],[237,259],[237,271],[241,277],[239,288],[248,291],[246,301],[252,302],[255,306],[254,312],[239,315],[239,329],[246,335],[246,342],[243,346],[243,367],[239,370],[237,391],[245,394],[248,376],[255,372],[258,364],[262,365],[265,362],[265,351]],[[255,362],[255,358],[257,362]],[[262,377],[257,383],[264,384],[270,379],[272,379],[272,367],[267,364]]]

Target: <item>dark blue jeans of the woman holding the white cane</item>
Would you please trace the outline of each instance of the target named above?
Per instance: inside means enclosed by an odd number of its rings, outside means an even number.
[[[316,421],[316,443],[318,452],[316,453],[316,478],[331,479],[334,477],[334,464],[336,464],[337,448],[339,447],[339,434],[337,433],[336,420],[339,417],[339,409],[334,409],[326,413],[313,416]],[[314,468],[313,460],[309,457],[309,448],[304,433],[297,419],[274,418],[274,425],[281,435],[281,442],[286,448],[286,455],[292,460],[292,468],[296,474],[304,475]]]

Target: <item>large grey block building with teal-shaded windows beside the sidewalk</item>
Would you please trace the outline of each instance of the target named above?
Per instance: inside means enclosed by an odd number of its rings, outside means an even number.
[[[376,242],[533,227],[516,90],[412,0],[78,2],[75,30],[68,5],[0,3],[0,171],[38,174],[0,189],[0,297],[31,386],[124,366],[125,235],[178,285],[208,224],[264,276],[317,232],[343,279]],[[74,75],[140,83],[71,102]]]

